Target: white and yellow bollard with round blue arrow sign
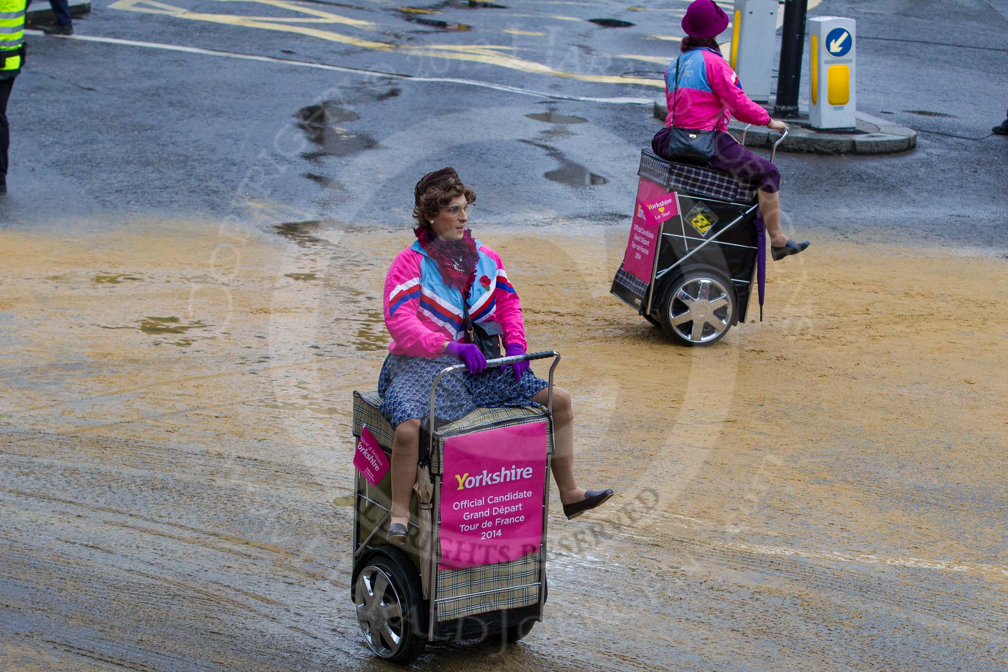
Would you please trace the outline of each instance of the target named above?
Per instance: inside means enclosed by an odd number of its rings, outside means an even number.
[[[807,26],[812,71],[808,123],[815,129],[853,130],[857,123],[855,21],[816,16],[808,19]]]

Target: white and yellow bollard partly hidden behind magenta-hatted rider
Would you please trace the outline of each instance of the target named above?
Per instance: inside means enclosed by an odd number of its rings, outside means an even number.
[[[746,95],[760,103],[770,100],[776,32],[777,0],[735,0],[728,62]]]

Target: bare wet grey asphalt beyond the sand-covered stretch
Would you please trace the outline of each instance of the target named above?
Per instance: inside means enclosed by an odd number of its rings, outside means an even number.
[[[642,79],[621,84],[621,76],[660,77],[685,4],[440,3],[417,13],[391,3],[98,3],[79,35],[367,72],[30,37],[32,66],[10,104],[4,221],[253,213],[263,227],[404,223],[416,175],[452,164],[479,187],[491,222],[625,222],[638,148],[659,127],[649,105],[632,101],[662,90]],[[996,84],[1008,54],[1005,9],[979,0],[827,0],[811,12],[830,13],[860,22],[861,109],[918,129],[919,144],[882,157],[782,154],[785,221],[810,237],[825,228],[854,240],[1004,247],[1008,152],[990,127],[1008,105]],[[277,17],[286,22],[270,20]],[[634,25],[602,27],[596,18]],[[239,20],[246,24],[233,25]],[[295,26],[322,33],[289,32]],[[958,34],[964,39],[950,37]],[[324,103],[329,117],[312,107]],[[268,212],[256,207],[266,201]]]

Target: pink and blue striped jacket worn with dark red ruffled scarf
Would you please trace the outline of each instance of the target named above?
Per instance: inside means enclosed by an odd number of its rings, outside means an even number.
[[[492,319],[504,330],[504,345],[525,343],[521,301],[500,256],[480,241],[476,281],[469,292],[475,322]],[[459,341],[463,326],[462,293],[442,280],[437,264],[413,243],[392,261],[385,276],[385,326],[392,337],[388,352],[410,357],[439,357],[446,341]]]

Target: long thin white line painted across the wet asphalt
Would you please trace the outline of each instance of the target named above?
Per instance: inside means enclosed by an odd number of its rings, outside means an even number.
[[[29,35],[42,35],[40,30],[25,30]],[[144,42],[135,39],[121,39],[119,37],[98,37],[95,35],[59,35],[61,39],[76,39],[83,42],[99,42],[102,44],[118,44],[121,46],[139,46],[148,49],[162,49],[165,51],[181,51],[183,53],[199,53],[207,56],[224,56],[228,58],[238,58],[240,60],[257,60],[259,62],[279,63],[282,65],[294,65],[297,68],[312,68],[316,70],[332,71],[337,73],[348,73],[350,75],[361,75],[364,77],[394,77],[406,82],[422,82],[435,84],[459,84],[468,87],[480,87],[482,89],[492,89],[508,94],[518,94],[521,96],[531,96],[533,98],[550,98],[564,101],[580,101],[584,103],[611,103],[614,105],[652,105],[651,98],[631,98],[613,97],[596,98],[592,96],[569,96],[564,94],[547,94],[530,89],[509,87],[503,84],[491,84],[477,80],[460,80],[446,77],[412,77],[410,75],[400,75],[398,73],[384,73],[381,71],[364,70],[360,68],[347,68],[345,65],[331,65],[329,63],[317,63],[309,60],[293,60],[289,58],[276,58],[274,56],[258,56],[250,53],[237,53],[235,51],[220,51],[217,49],[205,49],[199,46],[182,46],[181,44],[164,44],[161,42]]]

